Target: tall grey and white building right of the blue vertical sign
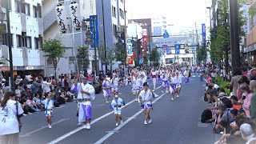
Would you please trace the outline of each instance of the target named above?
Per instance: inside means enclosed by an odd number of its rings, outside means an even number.
[[[98,40],[102,46],[106,42],[107,50],[114,49],[118,42],[118,37],[126,27],[125,6],[125,0],[96,0],[96,13],[100,15],[98,17]],[[125,40],[122,39],[122,41]],[[105,65],[102,66],[103,70],[106,69],[105,67]],[[117,69],[118,63],[115,62],[112,68]],[[108,69],[110,69],[110,66],[108,66]]]

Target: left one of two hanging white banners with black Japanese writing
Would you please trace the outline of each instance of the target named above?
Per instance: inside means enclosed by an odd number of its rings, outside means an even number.
[[[68,25],[68,20],[67,14],[66,14],[66,9],[65,6],[62,6],[61,4],[58,5],[55,8],[55,14],[57,16],[57,22],[58,22],[58,28],[62,33],[66,33],[67,25]]]

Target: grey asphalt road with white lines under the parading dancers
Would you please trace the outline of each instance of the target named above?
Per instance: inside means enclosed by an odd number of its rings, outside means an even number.
[[[20,143],[214,143],[213,126],[202,124],[199,119],[206,108],[206,102],[202,101],[205,82],[200,82],[198,77],[190,78],[190,85],[183,84],[180,97],[174,101],[170,94],[162,94],[158,86],[154,90],[158,98],[154,98],[150,125],[144,125],[143,110],[138,102],[134,102],[131,87],[126,86],[119,89],[120,97],[126,101],[122,109],[122,125],[115,126],[110,104],[105,104],[102,94],[97,94],[92,102],[91,130],[77,126],[77,104],[70,102],[54,109],[52,129],[48,129],[42,112],[22,117]]]

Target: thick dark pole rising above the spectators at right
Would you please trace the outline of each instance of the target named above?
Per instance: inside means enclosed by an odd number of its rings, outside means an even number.
[[[238,0],[230,1],[230,50],[232,71],[241,66],[238,34]]]

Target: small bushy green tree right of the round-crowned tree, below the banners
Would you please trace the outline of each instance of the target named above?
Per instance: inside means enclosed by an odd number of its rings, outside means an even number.
[[[79,46],[77,58],[78,58],[78,63],[82,65],[83,70],[85,70],[87,66],[90,64],[89,46]]]

